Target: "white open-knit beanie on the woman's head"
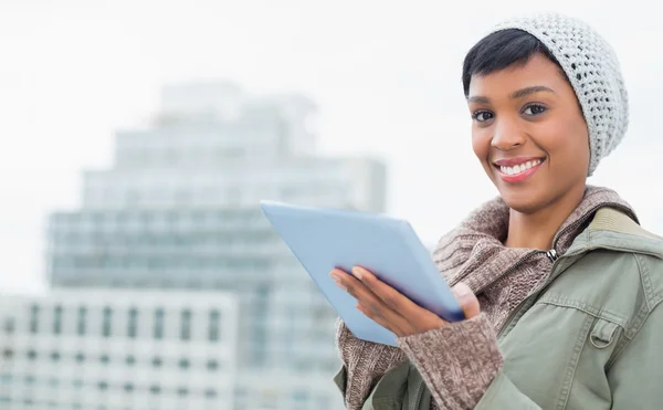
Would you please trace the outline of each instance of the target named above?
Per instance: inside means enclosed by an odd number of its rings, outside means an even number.
[[[629,125],[629,96],[614,50],[587,23],[560,14],[516,18],[492,32],[505,29],[520,29],[537,38],[571,82],[589,128],[591,176]]]

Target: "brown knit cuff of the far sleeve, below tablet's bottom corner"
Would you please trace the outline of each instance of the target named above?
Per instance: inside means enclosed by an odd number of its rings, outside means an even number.
[[[336,326],[336,345],[343,364],[334,381],[347,409],[359,410],[378,380],[407,356],[399,348],[355,337],[340,318]]]

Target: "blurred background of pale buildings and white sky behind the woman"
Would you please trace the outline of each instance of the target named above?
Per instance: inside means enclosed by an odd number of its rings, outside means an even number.
[[[341,409],[335,315],[260,199],[408,219],[496,191],[460,75],[493,24],[582,18],[631,125],[592,185],[663,231],[648,2],[0,1],[0,408]]]

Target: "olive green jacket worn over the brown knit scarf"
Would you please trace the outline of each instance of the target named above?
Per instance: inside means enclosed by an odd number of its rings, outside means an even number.
[[[663,408],[663,239],[604,208],[498,335],[504,368],[476,409]],[[345,391],[345,368],[335,382]],[[429,410],[406,361],[362,410]]]

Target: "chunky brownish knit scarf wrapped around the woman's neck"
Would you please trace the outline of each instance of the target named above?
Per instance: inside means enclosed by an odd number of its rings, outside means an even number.
[[[633,210],[617,192],[588,186],[582,201],[555,235],[554,249],[562,255],[603,207]],[[506,248],[508,206],[495,198],[472,212],[455,230],[440,239],[433,261],[450,285],[464,282],[476,294],[482,311],[498,332],[509,314],[552,269],[545,251]]]

